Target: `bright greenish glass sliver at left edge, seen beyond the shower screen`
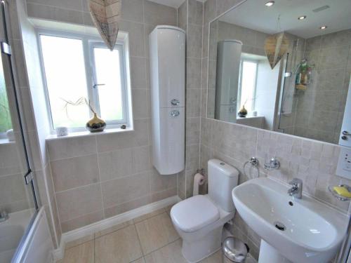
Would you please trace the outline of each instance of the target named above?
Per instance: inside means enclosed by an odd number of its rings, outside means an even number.
[[[10,129],[12,129],[12,122],[10,108],[8,107],[4,69],[0,55],[0,133],[6,133]]]

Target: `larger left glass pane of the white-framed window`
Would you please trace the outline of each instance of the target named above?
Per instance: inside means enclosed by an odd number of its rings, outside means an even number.
[[[88,98],[82,41],[41,35],[53,127],[84,127],[90,118],[86,104],[66,105]]]

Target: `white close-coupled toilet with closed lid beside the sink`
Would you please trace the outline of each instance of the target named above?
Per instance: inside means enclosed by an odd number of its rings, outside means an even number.
[[[220,249],[223,226],[234,217],[232,189],[239,171],[218,159],[208,161],[208,194],[180,201],[171,209],[171,219],[183,239],[182,253],[188,262]]]

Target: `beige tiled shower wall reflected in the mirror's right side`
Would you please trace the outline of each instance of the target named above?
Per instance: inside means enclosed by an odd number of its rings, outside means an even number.
[[[351,74],[351,29],[307,39],[312,83],[297,93],[294,135],[338,143]],[[313,102],[313,103],[311,103]]]

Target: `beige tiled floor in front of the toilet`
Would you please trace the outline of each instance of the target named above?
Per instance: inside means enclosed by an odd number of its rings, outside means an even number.
[[[186,263],[170,208],[86,236],[66,245],[58,263]],[[201,261],[222,262],[220,251]]]

